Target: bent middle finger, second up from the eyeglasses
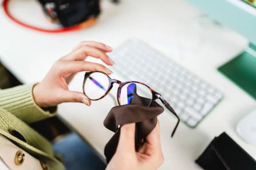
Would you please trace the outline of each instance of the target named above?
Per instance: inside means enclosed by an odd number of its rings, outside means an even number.
[[[88,45],[82,45],[77,49],[70,52],[68,55],[61,57],[60,60],[85,60],[85,58],[90,55],[95,58],[100,58],[103,62],[108,65],[114,65],[113,60],[106,55],[105,51],[102,49],[97,49]]]

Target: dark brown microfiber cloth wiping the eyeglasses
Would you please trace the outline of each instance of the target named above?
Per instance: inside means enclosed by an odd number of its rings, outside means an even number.
[[[104,154],[107,158],[107,163],[110,162],[118,146],[120,136],[120,128],[117,128],[118,125],[136,123],[135,149],[138,151],[142,139],[146,141],[145,137],[155,128],[157,115],[164,111],[164,108],[155,101],[150,107],[146,107],[143,104],[150,101],[148,98],[134,93],[133,95],[130,101],[131,104],[113,107],[103,122],[106,128],[115,133],[105,145]]]

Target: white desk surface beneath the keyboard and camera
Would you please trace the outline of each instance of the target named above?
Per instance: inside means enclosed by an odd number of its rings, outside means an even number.
[[[12,0],[10,5],[18,18],[53,27],[38,10],[40,6],[35,0]],[[200,169],[195,160],[223,131],[256,158],[256,146],[241,140],[235,131],[237,122],[256,109],[256,102],[217,71],[218,66],[241,52],[248,42],[236,32],[214,25],[201,16],[200,11],[183,0],[121,0],[119,5],[103,0],[102,13],[93,27],[77,32],[46,34],[13,23],[1,8],[0,60],[20,81],[32,83],[42,80],[53,62],[82,40],[104,42],[115,49],[130,37],[140,38],[225,95],[197,128],[188,128],[181,122],[174,138],[170,138],[170,134],[176,119],[166,111],[159,116],[165,158],[159,169]],[[116,72],[111,77],[125,81]],[[83,73],[77,74],[70,89],[82,91],[82,82]],[[117,90],[114,87],[113,94]],[[59,115],[103,156],[104,146],[113,135],[103,126],[103,120],[113,106],[109,96],[93,101],[91,107],[63,103],[59,105]]]

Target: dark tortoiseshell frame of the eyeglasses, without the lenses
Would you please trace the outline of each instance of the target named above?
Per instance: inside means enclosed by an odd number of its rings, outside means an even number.
[[[99,71],[95,71],[95,72],[99,72]],[[84,92],[84,95],[86,95],[85,90],[84,90],[85,81],[87,80],[88,77],[90,77],[90,75],[91,75],[92,73],[94,73],[94,72],[85,72],[85,74],[84,74],[84,83],[83,83],[83,92]],[[106,75],[104,72],[100,72],[100,73]],[[103,97],[105,97],[106,95],[108,95],[108,93],[110,92],[110,90],[111,90],[112,87],[113,87],[113,84],[114,84],[114,83],[118,83],[119,87],[118,87],[118,92],[117,92],[117,100],[118,100],[118,105],[121,105],[121,104],[120,104],[120,92],[121,92],[122,87],[123,87],[125,84],[134,82],[134,83],[140,83],[140,84],[142,84],[142,85],[145,85],[144,83],[142,83],[142,82],[137,82],[137,81],[121,82],[121,81],[119,81],[119,80],[111,79],[108,75],[106,75],[106,76],[108,77],[108,82],[109,82],[109,84],[108,84],[108,89],[106,90],[105,94],[102,95],[102,97],[100,97],[100,98],[98,98],[98,99],[90,99],[90,98],[86,95],[90,100],[100,100],[100,99],[102,99]],[[150,101],[148,107],[152,104],[153,101],[155,101],[156,99],[160,99],[161,102],[163,103],[163,105],[177,117],[178,122],[177,122],[177,124],[176,124],[174,130],[172,131],[172,137],[173,137],[173,135],[174,135],[174,133],[175,133],[175,131],[176,131],[178,125],[179,125],[179,117],[178,117],[178,115],[176,114],[176,112],[174,111],[174,109],[172,108],[172,106],[171,106],[166,100],[164,100],[164,98],[163,98],[158,92],[152,90],[148,85],[145,85],[145,86],[148,87],[149,90],[152,92],[152,99],[151,99],[151,101]]]

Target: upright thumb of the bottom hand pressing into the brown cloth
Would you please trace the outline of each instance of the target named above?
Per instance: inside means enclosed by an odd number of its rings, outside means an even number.
[[[135,123],[121,126],[117,150],[135,153]]]

